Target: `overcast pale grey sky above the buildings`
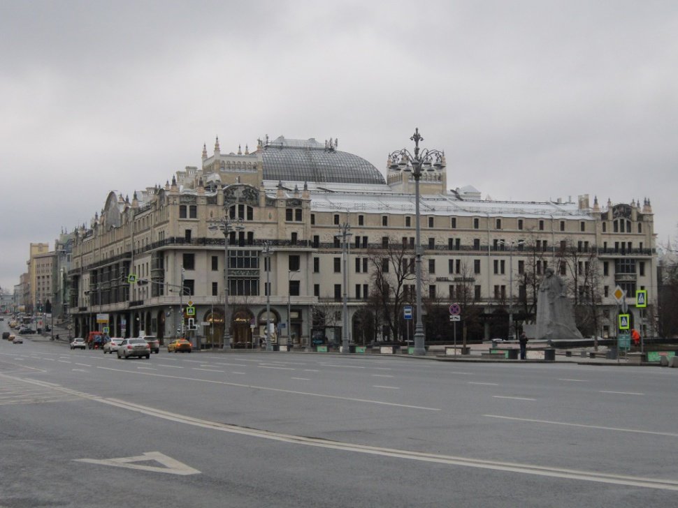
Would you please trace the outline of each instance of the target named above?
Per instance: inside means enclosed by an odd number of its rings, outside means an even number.
[[[649,197],[677,230],[674,1],[0,0],[0,286],[111,190],[265,135],[384,172],[445,150],[495,200]]]

